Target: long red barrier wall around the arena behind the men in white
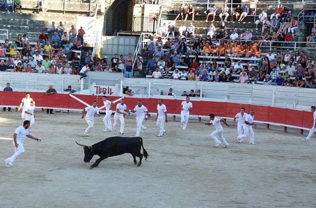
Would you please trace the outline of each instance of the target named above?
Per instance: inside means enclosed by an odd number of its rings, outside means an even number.
[[[25,97],[25,92],[4,92],[0,91],[0,106],[18,106],[21,99]],[[101,95],[74,95],[80,100],[92,105],[94,101],[98,101],[98,107],[103,106]],[[37,107],[50,108],[68,108],[83,109],[86,107],[79,101],[70,97],[69,94],[53,94],[45,95],[44,92],[32,92],[31,97],[36,101]],[[109,97],[113,101],[118,99],[117,96]],[[134,109],[137,101],[142,100],[143,104],[149,109],[149,112],[157,112],[157,98],[134,98],[126,97],[125,103],[128,108]],[[167,106],[168,114],[180,114],[181,102],[183,100],[164,99]],[[255,120],[264,122],[274,122],[280,124],[288,124],[298,127],[308,128],[308,124],[313,120],[313,113],[307,111],[298,111],[286,108],[277,108],[269,106],[258,106],[249,104],[238,104],[229,102],[212,102],[212,101],[192,101],[193,109],[191,115],[208,116],[214,113],[220,117],[234,117],[244,107],[246,112],[251,109],[255,110]],[[112,110],[115,110],[115,106]]]

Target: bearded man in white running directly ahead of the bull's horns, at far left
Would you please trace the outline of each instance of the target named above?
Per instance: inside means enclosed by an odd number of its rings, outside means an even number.
[[[13,134],[13,145],[15,147],[15,153],[11,157],[4,160],[6,167],[9,168],[10,166],[13,166],[13,162],[15,161],[15,159],[17,159],[22,153],[25,152],[23,143],[26,136],[38,142],[41,141],[39,138],[28,134],[28,127],[30,127],[30,125],[30,121],[24,121],[22,126],[19,126],[15,129]]]

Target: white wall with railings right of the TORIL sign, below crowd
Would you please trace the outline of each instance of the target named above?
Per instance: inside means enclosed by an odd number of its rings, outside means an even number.
[[[173,89],[174,99],[183,99],[183,91],[200,90],[200,97],[193,100],[212,100],[254,104],[290,109],[309,109],[316,103],[316,90],[300,87],[286,87],[277,85],[240,84],[202,82],[173,79],[144,79],[125,78],[123,87],[129,86],[135,97],[161,97],[169,88]],[[171,97],[171,96],[168,96]]]

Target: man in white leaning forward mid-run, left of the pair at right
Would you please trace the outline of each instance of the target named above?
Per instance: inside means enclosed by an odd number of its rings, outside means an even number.
[[[226,141],[225,137],[223,136],[223,127],[221,122],[223,122],[226,126],[229,126],[226,121],[224,119],[220,119],[220,118],[215,118],[215,115],[213,113],[210,114],[210,122],[209,123],[205,123],[205,125],[214,125],[215,127],[215,131],[213,131],[210,136],[212,139],[214,139],[214,141],[216,142],[215,146],[219,146],[220,144],[222,144],[222,142],[224,143],[224,146],[222,147],[228,147],[229,143]],[[216,135],[219,136],[219,139],[217,139]]]

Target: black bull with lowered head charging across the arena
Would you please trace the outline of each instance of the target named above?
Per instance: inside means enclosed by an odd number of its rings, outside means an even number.
[[[124,153],[131,153],[134,159],[134,164],[137,166],[142,165],[143,156],[145,157],[145,160],[148,157],[148,153],[144,149],[143,139],[141,137],[113,136],[101,142],[95,143],[92,146],[87,146],[79,143],[77,144],[79,146],[82,146],[84,149],[84,162],[90,162],[94,155],[100,156],[100,158],[97,159],[94,164],[90,166],[90,169],[97,167],[102,160],[108,157],[113,157]],[[141,147],[143,147],[143,154],[140,152]],[[139,157],[138,164],[136,157]]]

